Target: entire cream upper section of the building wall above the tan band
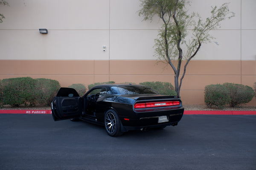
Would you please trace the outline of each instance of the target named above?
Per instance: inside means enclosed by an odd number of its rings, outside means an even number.
[[[156,59],[160,20],[143,21],[140,0],[7,0],[0,6],[0,59]],[[189,11],[209,16],[225,0],[193,0]],[[256,0],[231,0],[236,17],[211,31],[196,60],[255,60]],[[39,28],[49,33],[39,34]],[[106,45],[106,51],[102,46]]]

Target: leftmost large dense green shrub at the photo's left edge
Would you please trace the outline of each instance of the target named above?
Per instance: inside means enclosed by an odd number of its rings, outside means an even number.
[[[2,80],[2,104],[20,106],[22,104],[35,105],[33,89],[36,80],[31,77],[19,77]]]

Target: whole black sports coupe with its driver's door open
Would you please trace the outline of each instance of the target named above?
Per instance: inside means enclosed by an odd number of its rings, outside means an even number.
[[[164,96],[143,85],[97,85],[84,96],[60,88],[52,100],[55,121],[79,119],[104,125],[110,136],[128,130],[175,126],[184,108],[178,96]]]

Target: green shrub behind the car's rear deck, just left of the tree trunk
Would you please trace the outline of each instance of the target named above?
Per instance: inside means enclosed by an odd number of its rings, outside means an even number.
[[[154,91],[157,91],[159,94],[176,96],[177,93],[173,85],[169,82],[141,82],[140,85],[145,85],[149,88],[152,88]]]

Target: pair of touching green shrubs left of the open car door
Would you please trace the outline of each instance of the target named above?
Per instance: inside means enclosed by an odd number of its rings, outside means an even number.
[[[60,84],[52,79],[19,77],[0,81],[1,105],[46,105],[57,94]]]

